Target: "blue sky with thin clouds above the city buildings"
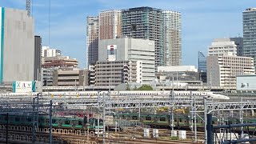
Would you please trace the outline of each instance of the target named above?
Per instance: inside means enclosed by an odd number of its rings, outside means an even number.
[[[42,45],[86,64],[86,16],[102,10],[151,6],[182,13],[182,65],[197,66],[198,50],[207,52],[214,38],[242,36],[242,11],[256,7],[255,0],[49,0],[33,1],[35,33]],[[26,0],[0,0],[0,6],[26,9]]]

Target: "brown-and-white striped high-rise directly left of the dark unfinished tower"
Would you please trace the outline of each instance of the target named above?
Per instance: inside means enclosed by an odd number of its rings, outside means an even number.
[[[99,39],[121,37],[121,10],[106,10],[99,13]]]

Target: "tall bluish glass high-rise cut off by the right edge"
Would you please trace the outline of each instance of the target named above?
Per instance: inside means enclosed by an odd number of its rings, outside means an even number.
[[[256,67],[256,8],[249,8],[242,12],[243,24],[243,55],[254,58],[254,67]]]

